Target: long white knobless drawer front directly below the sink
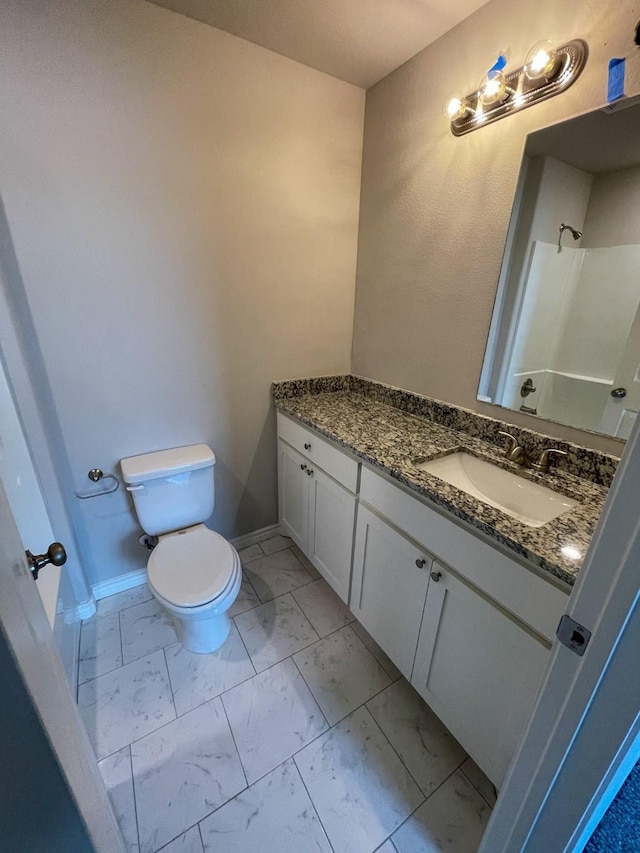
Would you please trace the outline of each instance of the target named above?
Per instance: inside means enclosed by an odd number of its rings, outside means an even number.
[[[360,500],[553,642],[567,593],[364,465]]]

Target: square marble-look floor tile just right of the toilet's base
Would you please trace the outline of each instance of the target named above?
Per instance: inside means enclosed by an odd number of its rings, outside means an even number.
[[[319,639],[290,595],[241,613],[235,623],[257,672]]]

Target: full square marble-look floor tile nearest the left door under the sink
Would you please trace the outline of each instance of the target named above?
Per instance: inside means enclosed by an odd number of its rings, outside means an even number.
[[[391,684],[349,626],[298,652],[293,659],[330,725]]]

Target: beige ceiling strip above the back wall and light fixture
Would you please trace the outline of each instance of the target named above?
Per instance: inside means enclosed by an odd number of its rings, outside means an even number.
[[[368,89],[487,0],[151,0]]]

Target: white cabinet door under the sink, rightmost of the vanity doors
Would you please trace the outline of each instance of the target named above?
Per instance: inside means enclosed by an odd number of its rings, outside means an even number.
[[[500,787],[549,650],[434,562],[411,683]]]

